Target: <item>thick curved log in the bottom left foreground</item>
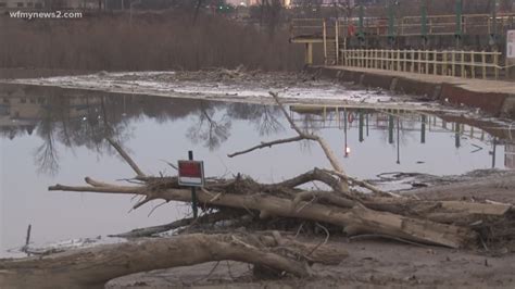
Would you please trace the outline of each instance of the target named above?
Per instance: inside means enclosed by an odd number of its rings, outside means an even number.
[[[280,254],[274,249],[279,244],[296,257]],[[192,234],[104,244],[42,257],[0,260],[0,288],[103,288],[106,281],[120,276],[223,260],[306,277],[311,273],[303,261],[335,264],[346,256],[342,249],[315,248],[278,234]]]

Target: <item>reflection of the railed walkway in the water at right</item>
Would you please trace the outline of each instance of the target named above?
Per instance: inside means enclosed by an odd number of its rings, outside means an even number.
[[[357,131],[359,142],[364,142],[369,137],[370,130],[378,134],[381,139],[387,140],[388,144],[395,148],[397,164],[401,164],[401,148],[413,144],[415,133],[419,135],[420,144],[426,143],[427,134],[443,134],[452,135],[455,149],[462,148],[462,140],[479,141],[483,144],[481,147],[472,143],[475,149],[470,153],[482,150],[485,144],[488,146],[492,168],[495,167],[497,148],[500,138],[502,146],[505,148],[504,166],[505,168],[515,168],[515,142],[512,138],[515,129],[494,122],[402,110],[367,110],[344,106],[297,105],[292,106],[290,111],[290,116],[304,130],[314,131],[335,128],[342,130],[344,158],[349,158],[351,152],[348,144],[350,130]],[[451,122],[448,122],[448,120]],[[424,151],[420,153],[423,154]]]

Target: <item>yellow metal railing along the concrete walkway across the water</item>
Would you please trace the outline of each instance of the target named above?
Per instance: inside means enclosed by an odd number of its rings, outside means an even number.
[[[342,49],[344,66],[499,79],[501,52],[456,50]]]

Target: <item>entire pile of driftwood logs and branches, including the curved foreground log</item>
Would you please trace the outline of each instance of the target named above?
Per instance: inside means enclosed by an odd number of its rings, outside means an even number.
[[[420,201],[349,177],[325,140],[297,127],[277,95],[272,96],[297,136],[263,142],[229,156],[279,143],[311,140],[322,147],[331,169],[314,168],[278,184],[260,184],[241,175],[233,179],[208,179],[197,191],[198,205],[204,212],[202,216],[117,235],[131,239],[124,243],[0,261],[0,288],[101,287],[110,279],[131,273],[221,260],[251,263],[256,271],[272,271],[278,276],[305,277],[313,274],[310,271],[313,263],[338,264],[347,256],[342,248],[327,243],[329,231],[385,236],[459,249],[491,239],[485,228],[513,215],[511,204]],[[121,186],[86,177],[87,186],[55,185],[49,189],[141,196],[134,209],[158,199],[192,201],[190,189],[179,186],[177,177],[146,175],[115,141],[109,141],[136,172],[133,183],[137,184]],[[312,181],[323,183],[330,189],[302,189]],[[297,227],[311,222],[322,228],[326,239],[317,243],[300,242],[273,226],[250,231],[228,229],[241,224],[266,224],[267,219],[292,222]],[[222,230],[194,230],[196,226],[221,222],[229,225]],[[181,234],[172,237],[145,238],[180,228]]]

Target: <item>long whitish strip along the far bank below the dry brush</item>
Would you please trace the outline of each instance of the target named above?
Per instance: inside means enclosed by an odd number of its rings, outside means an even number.
[[[181,80],[174,79],[175,72],[101,72],[81,76],[60,76],[38,79],[18,79],[14,83],[28,85],[59,86],[78,89],[96,89],[131,93],[186,93],[211,97],[271,98],[268,91],[277,91],[285,99],[341,100],[356,103],[390,102],[392,96],[381,91],[350,90],[326,80],[309,84],[293,84],[292,87],[280,81],[224,81],[217,79]],[[273,79],[273,77],[272,77]],[[291,85],[291,84],[290,84]]]

